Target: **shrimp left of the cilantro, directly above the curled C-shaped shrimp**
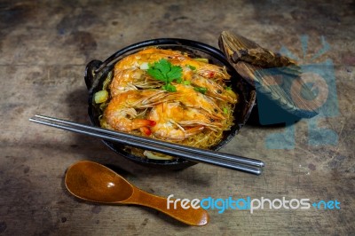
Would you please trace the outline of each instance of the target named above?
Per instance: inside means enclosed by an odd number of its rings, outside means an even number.
[[[110,84],[111,97],[126,90],[154,89],[162,86],[162,82],[154,80],[139,68],[114,70],[114,79]]]

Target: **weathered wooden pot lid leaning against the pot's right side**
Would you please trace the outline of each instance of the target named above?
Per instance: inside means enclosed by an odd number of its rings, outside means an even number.
[[[303,73],[296,61],[228,31],[221,33],[218,44],[241,77],[256,89],[259,119],[266,117],[263,124],[319,114],[319,99],[307,85],[317,83],[317,78]]]

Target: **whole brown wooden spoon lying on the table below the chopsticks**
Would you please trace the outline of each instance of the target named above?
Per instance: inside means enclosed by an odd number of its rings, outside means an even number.
[[[167,199],[146,193],[131,185],[126,179],[92,161],[80,161],[67,169],[67,190],[75,197],[108,204],[136,204],[154,208],[190,225],[205,225],[209,223],[209,214],[202,208],[182,208],[181,204],[170,204]],[[180,202],[177,202],[180,203]]]

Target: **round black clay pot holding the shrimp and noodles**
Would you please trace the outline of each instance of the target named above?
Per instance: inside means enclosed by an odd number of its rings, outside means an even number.
[[[99,60],[92,60],[87,65],[85,70],[85,83],[89,90],[88,112],[92,125],[99,126],[99,115],[101,114],[99,106],[96,106],[93,102],[93,95],[95,92],[102,90],[103,82],[105,81],[108,73],[113,70],[115,62],[148,46],[184,51],[192,57],[207,58],[209,59],[210,63],[225,66],[227,68],[229,75],[231,75],[230,85],[232,85],[232,89],[239,94],[240,102],[233,112],[235,120],[232,129],[225,131],[223,140],[212,149],[218,150],[222,146],[225,146],[225,144],[228,143],[238,133],[239,130],[241,130],[241,127],[245,124],[245,122],[247,122],[248,116],[255,103],[256,92],[254,88],[243,81],[241,75],[239,75],[229,64],[229,62],[225,59],[225,55],[221,51],[205,43],[199,43],[186,39],[159,38],[147,40],[144,42],[132,44],[120,51],[116,51],[104,62]],[[193,161],[187,161],[181,158],[173,161],[145,159],[124,151],[123,146],[120,144],[115,144],[107,140],[103,140],[103,142],[115,153],[121,154],[130,161],[134,161],[152,168],[183,169],[195,164]]]

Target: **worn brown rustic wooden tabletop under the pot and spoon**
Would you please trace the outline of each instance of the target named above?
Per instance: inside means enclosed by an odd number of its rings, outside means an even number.
[[[355,233],[353,1],[1,1],[0,4],[0,234],[1,235],[343,235]],[[130,43],[183,37],[217,46],[223,30],[272,51],[288,48],[306,59],[325,36],[331,48],[318,62],[334,64],[339,114],[319,118],[334,130],[333,145],[308,144],[309,121],[297,122],[295,148],[268,149],[280,128],[246,126],[224,152],[263,160],[264,174],[198,164],[179,171],[147,169],[112,153],[98,139],[28,122],[46,114],[89,123],[85,65]],[[306,61],[304,63],[307,63]],[[134,206],[78,201],[64,186],[66,169],[90,160],[117,167],[149,193],[178,198],[307,198],[337,200],[341,209],[209,210],[210,223],[185,226]]]

